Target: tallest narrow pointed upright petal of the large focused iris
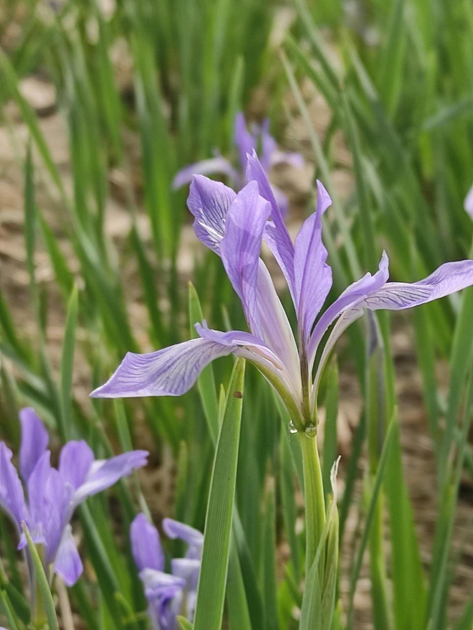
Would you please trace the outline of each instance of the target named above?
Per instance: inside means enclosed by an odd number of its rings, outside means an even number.
[[[247,181],[256,181],[260,195],[271,204],[272,222],[265,226],[264,240],[281,267],[294,300],[294,245],[287,231],[281,209],[255,151],[248,156]]]

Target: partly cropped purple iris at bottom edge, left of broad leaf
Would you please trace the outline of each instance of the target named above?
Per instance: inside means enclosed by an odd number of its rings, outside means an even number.
[[[162,523],[169,538],[187,543],[185,558],[171,561],[171,573],[164,572],[164,553],[158,530],[144,514],[131,524],[131,551],[148,600],[148,613],[155,630],[177,630],[177,615],[192,623],[197,600],[204,536],[198,530],[165,518]]]

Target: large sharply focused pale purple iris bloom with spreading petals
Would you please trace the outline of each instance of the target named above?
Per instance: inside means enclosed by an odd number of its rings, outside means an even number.
[[[128,353],[92,396],[180,396],[209,362],[233,353],[264,374],[286,404],[296,429],[311,434],[317,423],[316,397],[323,367],[335,342],[364,309],[408,309],[473,284],[473,260],[445,263],[413,284],[387,282],[388,259],[383,252],[374,275],[367,273],[354,282],[320,314],[332,285],[322,241],[322,215],[331,203],[328,193],[318,181],[316,211],[292,243],[255,151],[247,156],[247,180],[237,194],[223,183],[194,176],[187,205],[195,217],[198,238],[221,257],[242,301],[249,332],[224,333],[209,329],[205,322],[198,324],[197,339],[150,354]],[[297,342],[260,258],[262,241],[289,286],[298,321]]]

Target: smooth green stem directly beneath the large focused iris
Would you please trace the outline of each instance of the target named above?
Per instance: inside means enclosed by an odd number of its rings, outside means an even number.
[[[304,502],[306,506],[306,576],[315,558],[325,524],[322,471],[315,437],[301,436],[304,470]]]

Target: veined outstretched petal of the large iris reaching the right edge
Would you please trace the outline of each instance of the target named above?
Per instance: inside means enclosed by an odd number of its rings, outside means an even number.
[[[470,287],[473,284],[473,260],[459,260],[441,265],[430,276],[409,284],[387,282],[382,289],[367,295],[360,306],[377,311],[410,309]]]

